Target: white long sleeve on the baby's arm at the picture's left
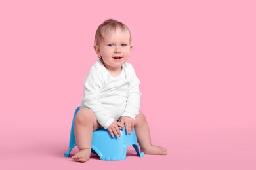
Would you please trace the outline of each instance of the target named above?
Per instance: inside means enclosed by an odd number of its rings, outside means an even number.
[[[81,107],[87,107],[93,110],[99,124],[106,129],[112,122],[114,122],[114,118],[112,118],[108,112],[106,112],[104,107],[102,107],[100,101],[100,90],[102,88],[101,81],[102,74],[99,69],[92,67],[85,79],[84,97],[82,99]]]

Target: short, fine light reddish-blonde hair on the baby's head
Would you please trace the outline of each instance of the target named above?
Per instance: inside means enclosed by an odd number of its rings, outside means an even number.
[[[98,26],[95,34],[95,45],[99,45],[100,41],[104,38],[104,33],[112,33],[112,31],[116,31],[116,29],[121,29],[122,31],[129,31],[130,34],[130,44],[131,44],[131,31],[127,27],[127,25],[123,24],[114,19],[105,20],[102,24]]]

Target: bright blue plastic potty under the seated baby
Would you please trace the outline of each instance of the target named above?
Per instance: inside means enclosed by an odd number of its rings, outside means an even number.
[[[66,157],[70,156],[71,150],[77,145],[75,141],[74,124],[75,114],[77,114],[79,109],[80,107],[77,107],[77,109],[75,109],[75,113],[73,116],[68,152],[65,152],[64,154],[64,156]],[[127,147],[133,145],[133,148],[135,148],[137,155],[143,157],[144,153],[140,152],[139,150],[135,131],[132,131],[131,135],[126,133],[125,129],[121,129],[120,132],[120,137],[111,137],[110,133],[108,133],[106,129],[99,129],[97,131],[93,131],[93,141],[91,146],[93,154],[98,154],[98,156],[100,156],[100,160],[125,160]]]

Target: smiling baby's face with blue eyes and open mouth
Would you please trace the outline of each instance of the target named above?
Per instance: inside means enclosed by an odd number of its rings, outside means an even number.
[[[116,29],[103,37],[99,46],[95,45],[96,53],[103,59],[106,69],[120,69],[129,58],[132,48],[129,31]]]

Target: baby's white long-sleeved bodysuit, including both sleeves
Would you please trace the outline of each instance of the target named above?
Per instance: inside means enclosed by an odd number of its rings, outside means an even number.
[[[98,60],[85,78],[81,107],[93,110],[104,129],[121,116],[134,119],[140,109],[139,84],[131,64],[124,63],[121,74],[113,77]]]

